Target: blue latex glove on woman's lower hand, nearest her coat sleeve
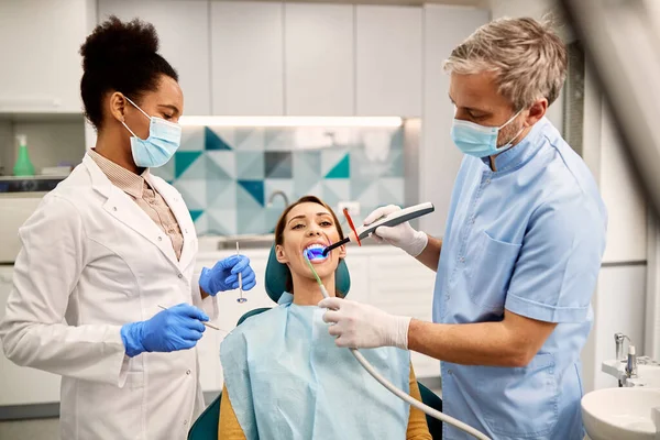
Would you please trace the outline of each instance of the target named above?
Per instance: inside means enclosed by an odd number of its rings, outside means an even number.
[[[197,344],[209,317],[189,304],[179,304],[156,314],[146,321],[122,326],[121,339],[130,358],[145,351],[170,352],[188,350]]]

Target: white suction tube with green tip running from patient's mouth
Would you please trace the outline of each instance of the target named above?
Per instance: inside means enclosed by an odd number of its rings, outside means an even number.
[[[316,270],[314,268],[314,265],[311,264],[311,262],[309,261],[309,256],[307,255],[307,252],[305,252],[305,260],[307,261],[307,264],[309,265],[309,268],[311,270],[311,273],[314,274],[315,278],[317,279],[317,283],[319,284],[319,287],[321,288],[321,295],[323,295],[323,298],[328,298],[330,295],[328,295],[328,290],[326,289],[326,286],[323,286],[323,283],[321,282],[321,278],[319,278],[318,274],[316,273]],[[394,394],[395,396],[397,396],[398,398],[400,398],[402,400],[413,405],[415,408],[424,411],[425,414],[427,414],[428,416],[431,416],[435,419],[438,419],[440,421],[443,421],[446,424],[449,425],[453,425],[454,427],[459,428],[460,430],[468,432],[470,436],[480,439],[480,440],[491,440],[490,437],[485,436],[484,433],[482,433],[481,431],[476,430],[475,428],[472,428],[470,425],[462,422],[461,420],[454,419],[451,416],[448,416],[443,413],[440,413],[437,409],[431,408],[428,405],[425,405],[424,403],[417,400],[415,397],[408,395],[407,393],[404,393],[403,391],[400,391],[399,388],[397,388],[396,386],[394,386],[389,381],[387,381],[385,377],[383,377],[381,375],[381,373],[378,373],[376,371],[376,369],[374,369],[374,366],[362,355],[362,353],[360,353],[360,351],[358,351],[358,349],[349,349],[351,351],[351,354],[353,354],[353,356],[358,360],[358,362],[360,363],[360,365],[362,365],[362,367],[364,367],[364,370],[366,370],[366,372],[369,374],[372,375],[373,378],[375,378],[376,381],[378,381],[378,383],[381,385],[383,385],[385,388],[387,388],[392,394]]]

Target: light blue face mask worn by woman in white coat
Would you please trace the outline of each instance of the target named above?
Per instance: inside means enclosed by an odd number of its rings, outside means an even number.
[[[174,122],[167,122],[162,118],[150,117],[129,98],[127,98],[127,101],[131,102],[151,121],[147,139],[138,138],[125,122],[121,122],[133,135],[131,138],[131,151],[135,165],[141,168],[156,168],[165,165],[179,147],[182,127]]]

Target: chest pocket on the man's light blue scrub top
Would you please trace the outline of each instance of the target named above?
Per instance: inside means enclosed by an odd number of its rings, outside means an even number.
[[[518,260],[520,244],[495,240],[482,232],[475,249],[474,264],[466,275],[472,301],[488,310],[504,309],[506,292]]]

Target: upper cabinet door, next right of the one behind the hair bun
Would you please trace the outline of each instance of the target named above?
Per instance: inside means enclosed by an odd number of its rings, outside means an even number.
[[[284,114],[284,7],[211,2],[213,114]]]

